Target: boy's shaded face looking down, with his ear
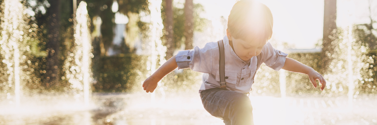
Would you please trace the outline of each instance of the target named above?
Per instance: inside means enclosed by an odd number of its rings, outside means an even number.
[[[244,61],[249,60],[250,58],[257,56],[261,53],[263,46],[267,43],[266,40],[242,40],[234,39],[227,30],[227,37],[233,43],[234,52],[239,58]]]

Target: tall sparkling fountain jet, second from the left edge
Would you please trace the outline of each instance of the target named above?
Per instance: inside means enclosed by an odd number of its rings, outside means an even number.
[[[83,97],[84,105],[89,106],[90,81],[92,80],[90,66],[92,45],[88,26],[88,11],[86,2],[81,1],[75,15],[75,45],[74,51],[70,52],[64,61],[66,66],[66,78],[74,90],[74,98],[78,101]],[[69,60],[73,58],[73,60]]]

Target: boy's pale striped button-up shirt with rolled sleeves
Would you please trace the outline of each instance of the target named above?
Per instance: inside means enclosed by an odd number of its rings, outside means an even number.
[[[254,83],[253,76],[257,68],[257,57],[250,62],[239,58],[229,45],[228,37],[223,39],[225,51],[225,82],[227,89],[241,93],[250,92]],[[261,63],[279,71],[285,63],[288,54],[276,50],[270,42],[264,45],[261,52]],[[219,75],[219,46],[217,42],[207,43],[203,48],[195,46],[194,49],[179,51],[175,57],[178,69],[191,68],[193,71],[202,72],[202,85],[199,93],[206,89],[220,87]]]

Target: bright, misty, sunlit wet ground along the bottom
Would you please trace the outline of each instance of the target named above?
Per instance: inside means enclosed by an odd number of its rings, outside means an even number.
[[[40,96],[38,98],[43,98]],[[65,99],[64,99],[65,98]],[[46,96],[39,103],[1,108],[0,124],[9,125],[223,125],[202,106],[196,92],[93,94],[89,107],[66,97]],[[254,122],[272,124],[377,124],[377,98],[360,97],[348,108],[348,97],[274,97],[250,95]],[[59,101],[57,101],[59,100]],[[65,100],[65,101],[62,101]],[[4,106],[5,104],[3,104]],[[11,107],[11,108],[9,108]]]

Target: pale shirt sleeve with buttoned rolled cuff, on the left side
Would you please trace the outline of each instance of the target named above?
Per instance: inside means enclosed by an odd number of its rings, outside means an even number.
[[[212,72],[213,45],[207,43],[204,48],[195,46],[194,49],[179,51],[175,57],[178,69],[191,68],[202,73]]]

